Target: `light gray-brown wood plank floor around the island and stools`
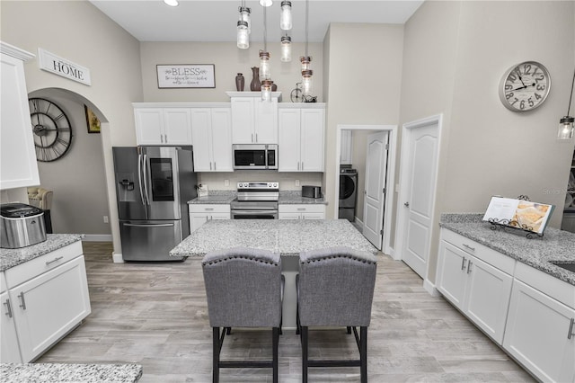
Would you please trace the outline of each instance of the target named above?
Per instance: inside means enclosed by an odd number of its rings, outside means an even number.
[[[111,263],[111,244],[84,243],[92,314],[39,362],[144,366],[140,382],[211,381],[211,329],[199,260]],[[534,381],[404,263],[380,254],[368,330],[370,382]],[[341,331],[310,332],[310,356],[356,352]],[[270,335],[236,331],[226,357],[268,358]],[[299,337],[279,339],[279,381],[300,382]],[[268,369],[223,369],[222,382],[271,381]],[[358,368],[311,369],[310,382],[357,382]]]

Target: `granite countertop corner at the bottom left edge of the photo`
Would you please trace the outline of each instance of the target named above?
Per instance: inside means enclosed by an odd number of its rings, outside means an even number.
[[[3,383],[132,383],[142,376],[139,364],[2,363]]]

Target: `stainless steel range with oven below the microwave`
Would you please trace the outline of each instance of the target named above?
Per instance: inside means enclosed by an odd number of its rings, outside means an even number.
[[[278,219],[279,183],[237,183],[232,219]]]

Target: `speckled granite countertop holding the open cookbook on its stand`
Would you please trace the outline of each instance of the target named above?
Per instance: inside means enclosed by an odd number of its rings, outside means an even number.
[[[543,237],[526,238],[514,229],[491,230],[482,214],[442,214],[439,226],[509,255],[521,263],[575,285],[575,272],[569,272],[550,261],[575,263],[575,234],[547,227]]]

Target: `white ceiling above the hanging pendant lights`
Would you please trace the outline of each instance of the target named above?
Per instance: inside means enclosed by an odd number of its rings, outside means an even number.
[[[180,0],[171,7],[162,0],[90,0],[103,13],[140,41],[234,41],[240,0]],[[275,0],[267,8],[267,41],[278,41],[279,9]],[[322,42],[330,22],[383,22],[403,24],[423,0],[309,0],[308,40]],[[252,8],[250,40],[263,41],[263,8]],[[292,0],[292,41],[305,41],[305,1]]]

